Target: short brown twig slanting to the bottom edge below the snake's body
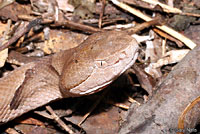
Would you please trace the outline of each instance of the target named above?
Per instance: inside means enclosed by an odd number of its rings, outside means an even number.
[[[74,132],[55,114],[50,106],[46,106],[46,109],[51,114],[52,118],[69,134],[74,134]]]

